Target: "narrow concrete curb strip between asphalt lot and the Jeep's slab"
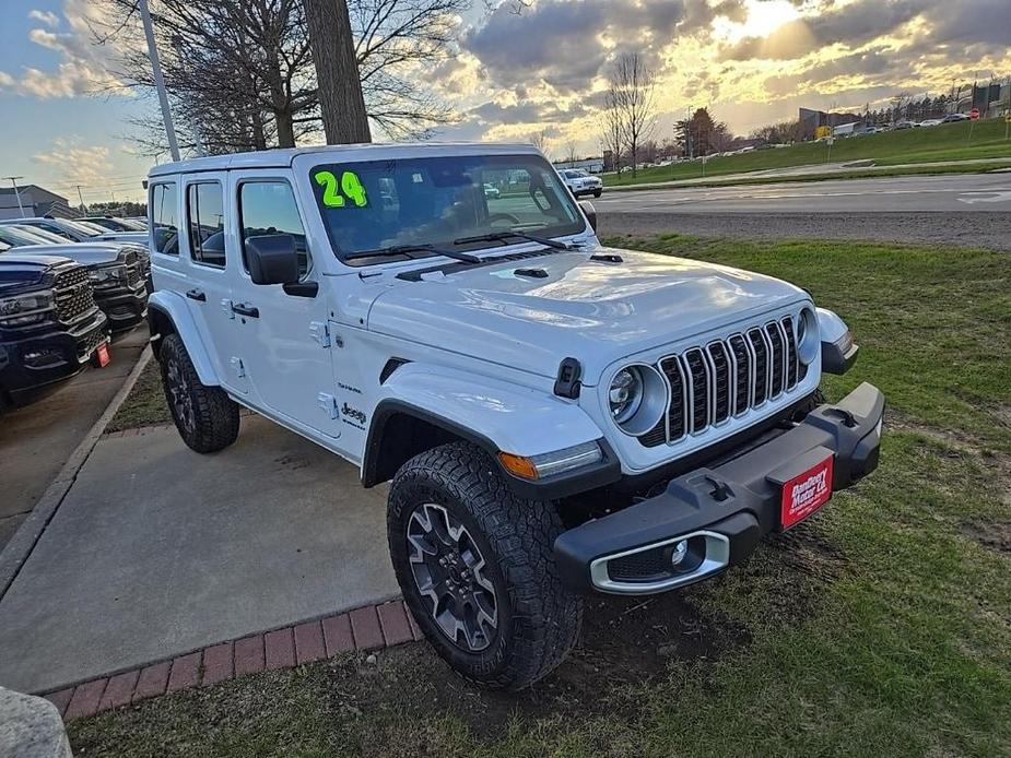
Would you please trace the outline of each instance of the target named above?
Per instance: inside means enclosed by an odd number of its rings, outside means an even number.
[[[133,370],[130,371],[126,381],[124,381],[122,387],[119,388],[119,391],[115,394],[113,400],[109,401],[109,404],[105,407],[102,415],[98,416],[98,419],[92,425],[92,428],[89,429],[84,439],[81,440],[81,443],[70,453],[70,458],[67,459],[67,462],[63,464],[63,467],[60,469],[56,478],[46,488],[46,491],[43,493],[38,502],[35,504],[35,508],[32,509],[28,517],[21,526],[17,528],[17,531],[14,532],[14,536],[11,537],[3,550],[0,552],[0,600],[3,600],[3,595],[7,594],[11,584],[14,583],[17,573],[21,571],[21,567],[24,566],[28,556],[32,555],[32,550],[35,549],[35,545],[42,537],[43,532],[46,531],[46,526],[52,520],[52,517],[56,516],[56,511],[59,509],[60,504],[63,502],[63,498],[67,497],[67,493],[70,491],[70,488],[73,486],[78,477],[78,472],[81,471],[84,462],[87,461],[87,457],[91,455],[92,450],[101,439],[105,431],[105,427],[113,419],[113,416],[116,415],[119,406],[122,405],[124,401],[127,399],[127,395],[130,394],[130,390],[132,390],[133,386],[137,383],[141,371],[148,366],[151,356],[151,347],[145,345],[140,356],[137,358],[137,363],[133,364]]]

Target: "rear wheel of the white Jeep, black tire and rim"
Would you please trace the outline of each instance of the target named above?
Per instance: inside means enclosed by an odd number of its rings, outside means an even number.
[[[183,441],[199,453],[232,445],[238,437],[238,403],[220,387],[200,383],[178,334],[162,341],[158,363],[165,401]]]

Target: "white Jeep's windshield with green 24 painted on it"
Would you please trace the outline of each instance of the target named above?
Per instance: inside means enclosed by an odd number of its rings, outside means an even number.
[[[473,242],[454,240],[512,230],[550,238],[585,228],[567,189],[532,154],[328,164],[309,176],[342,260],[401,245],[466,249]]]

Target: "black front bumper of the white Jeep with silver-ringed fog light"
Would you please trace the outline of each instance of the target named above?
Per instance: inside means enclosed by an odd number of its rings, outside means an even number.
[[[833,490],[878,466],[884,395],[863,383],[793,428],[672,479],[656,496],[561,534],[563,581],[581,592],[651,594],[742,561],[780,528],[781,485],[833,457]],[[674,567],[673,552],[687,545]]]

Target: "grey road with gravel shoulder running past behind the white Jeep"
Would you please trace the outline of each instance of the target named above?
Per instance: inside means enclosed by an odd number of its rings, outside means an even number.
[[[809,237],[1011,250],[1011,173],[604,191],[600,232]]]

